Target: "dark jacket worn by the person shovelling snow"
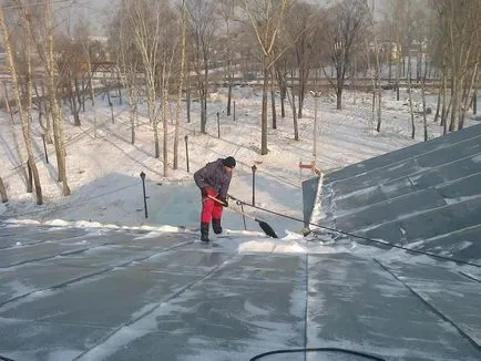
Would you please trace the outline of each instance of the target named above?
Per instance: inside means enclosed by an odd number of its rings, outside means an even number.
[[[194,180],[201,189],[209,186],[218,193],[219,198],[227,196],[228,186],[231,185],[232,174],[224,171],[222,158],[207,163],[205,167],[194,173]]]

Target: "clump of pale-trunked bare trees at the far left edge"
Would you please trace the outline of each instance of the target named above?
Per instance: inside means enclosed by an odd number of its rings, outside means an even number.
[[[6,19],[14,22],[7,22]],[[39,114],[42,114],[42,110],[47,110],[47,117],[49,118],[47,124],[41,123],[41,125],[47,130],[48,141],[51,142],[50,134],[53,133],[58,182],[63,185],[63,195],[70,195],[66,180],[63,118],[58,96],[59,70],[53,45],[53,20],[50,1],[45,0],[43,7],[39,8],[25,6],[20,0],[6,1],[4,6],[0,7],[0,30],[1,43],[7,54],[7,72],[10,75],[10,86],[6,86],[4,92],[4,105],[10,107],[9,95],[11,91],[21,122],[27,153],[27,162],[23,162],[23,152],[17,147],[22,173],[25,177],[27,192],[32,193],[34,184],[37,204],[41,205],[43,203],[42,187],[33,152],[31,127],[33,118],[32,89],[38,85],[35,70],[39,68],[42,69],[43,73],[42,84],[48,89],[45,101],[38,104]],[[13,117],[11,121],[13,123]],[[42,121],[40,120],[40,122]]]

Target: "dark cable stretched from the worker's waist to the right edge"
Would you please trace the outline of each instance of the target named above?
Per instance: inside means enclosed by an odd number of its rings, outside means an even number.
[[[263,207],[254,206],[252,204],[245,203],[244,200],[234,198],[231,195],[229,195],[229,197],[233,198],[234,200],[239,202],[243,205],[253,207],[255,209],[259,209],[259,210],[263,210],[263,212],[266,212],[266,213],[279,216],[279,217],[288,218],[288,219],[291,219],[291,220],[297,220],[297,221],[300,221],[300,223],[304,224],[303,219],[299,219],[299,218],[296,218],[296,217],[291,217],[291,216],[288,216],[288,215],[284,215],[282,213],[274,212],[274,210],[270,210],[270,209],[266,209],[266,208],[263,208]],[[453,261],[453,262],[457,262],[457,264],[462,264],[462,265],[467,265],[467,266],[473,266],[473,267],[481,268],[481,265],[469,262],[469,261],[465,261],[465,260],[462,260],[462,259],[458,259],[458,258],[453,258],[453,257],[439,256],[439,255],[434,255],[434,254],[427,252],[427,251],[419,250],[419,249],[411,249],[411,248],[407,248],[407,247],[402,247],[402,246],[398,246],[398,245],[391,244],[389,241],[383,241],[383,240],[372,239],[372,238],[360,236],[360,235],[355,235],[355,234],[351,234],[351,233],[348,233],[348,231],[345,231],[345,230],[340,230],[340,229],[336,229],[336,228],[331,228],[331,227],[327,227],[327,226],[321,226],[321,225],[318,225],[318,224],[315,224],[315,223],[310,223],[310,221],[308,224],[311,225],[311,226],[319,227],[321,229],[326,229],[326,230],[332,231],[332,233],[337,233],[337,234],[345,235],[345,236],[352,237],[352,238],[362,239],[362,240],[366,240],[368,243],[375,243],[375,244],[379,244],[379,245],[383,245],[383,246],[388,246],[388,247],[392,247],[392,248],[399,248],[399,249],[402,249],[402,250],[406,250],[406,251],[410,251],[410,252],[415,252],[415,254],[430,256],[430,257],[442,259],[442,260],[449,260],[449,261]]]

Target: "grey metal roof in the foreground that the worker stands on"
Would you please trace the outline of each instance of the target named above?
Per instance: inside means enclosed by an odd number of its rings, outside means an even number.
[[[291,240],[228,236],[214,247],[196,238],[1,224],[0,354],[252,360],[336,348],[385,360],[481,358],[474,269],[356,254],[355,244],[300,239],[304,251],[284,252]],[[369,358],[313,351],[258,360]]]

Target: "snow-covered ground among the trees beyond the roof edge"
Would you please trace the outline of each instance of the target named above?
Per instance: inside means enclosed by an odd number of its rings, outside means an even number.
[[[420,114],[416,115],[416,140],[410,138],[407,92],[403,91],[401,96],[403,100],[397,102],[393,92],[385,92],[380,134],[373,131],[376,124],[371,116],[370,94],[346,92],[342,111],[335,109],[336,100],[332,95],[326,94],[319,99],[316,157],[313,155],[314,99],[308,96],[306,100],[304,117],[299,120],[298,142],[294,141],[293,116],[288,104],[285,118],[280,118],[278,111],[277,130],[272,130],[269,106],[269,153],[262,156],[259,87],[245,86],[234,90],[235,121],[233,116],[226,116],[226,89],[218,89],[211,94],[208,103],[207,135],[199,133],[199,104],[194,102],[192,105],[192,123],[186,123],[184,112],[178,147],[180,168],[176,171],[172,169],[174,125],[173,121],[168,123],[167,177],[163,176],[162,154],[161,159],[153,156],[153,132],[149,118],[140,116],[136,141],[132,145],[125,97],[124,105],[119,104],[119,99],[113,99],[115,122],[112,123],[108,100],[99,96],[94,107],[89,103],[86,112],[81,113],[80,127],[73,126],[72,118],[66,116],[66,168],[72,190],[69,197],[62,196],[61,185],[57,182],[53,145],[47,146],[50,163],[45,162],[41,128],[34,115],[33,144],[44,198],[42,206],[35,205],[34,194],[25,193],[25,184],[19,172],[21,161],[14,145],[18,142],[23,149],[19,121],[12,125],[9,116],[2,113],[0,176],[7,187],[9,203],[0,206],[0,214],[14,221],[81,227],[111,225],[153,229],[168,227],[171,230],[172,227],[197,227],[201,203],[193,173],[207,162],[232,155],[237,159],[229,190],[232,195],[252,202],[252,166],[255,165],[256,206],[301,219],[300,185],[314,174],[309,169],[300,169],[299,163],[315,162],[317,168],[326,173],[422,141]],[[416,93],[416,97],[419,100],[420,94]],[[279,104],[277,105],[279,107]],[[420,106],[419,103],[417,106]],[[434,95],[428,97],[428,106],[436,109]],[[217,138],[217,112],[221,118],[221,138]],[[141,106],[140,113],[146,114],[145,104]],[[175,104],[171,105],[171,114],[174,118]],[[470,122],[477,123],[469,120],[468,125]],[[429,136],[439,136],[442,128],[433,123],[433,114],[428,115],[428,123]],[[16,137],[12,136],[13,133]],[[160,133],[162,144],[162,125]],[[190,173],[186,172],[185,135],[188,135]],[[149,218],[144,216],[141,172],[146,174]],[[290,237],[291,233],[303,227],[301,223],[293,219],[248,207],[244,210],[268,221],[280,237]],[[237,213],[227,209],[224,227],[242,231],[244,223]],[[259,230],[257,224],[250,220],[247,220],[247,229]]]

